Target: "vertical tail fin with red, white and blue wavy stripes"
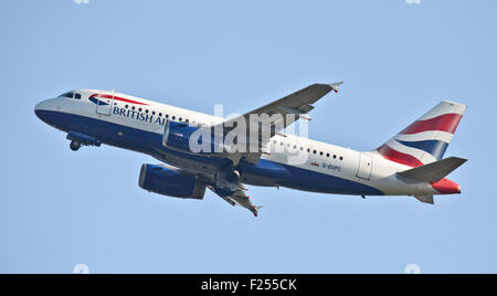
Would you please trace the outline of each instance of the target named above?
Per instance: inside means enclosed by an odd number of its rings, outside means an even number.
[[[466,106],[443,101],[377,151],[385,159],[410,167],[441,160]]]

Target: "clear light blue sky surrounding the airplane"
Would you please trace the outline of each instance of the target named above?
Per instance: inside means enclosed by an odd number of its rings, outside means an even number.
[[[0,1],[0,272],[497,272],[497,3]],[[311,138],[370,150],[441,99],[468,110],[447,156],[462,195],[409,198],[251,188],[254,219],[209,192],[138,188],[150,157],[68,149],[34,105],[116,88],[207,113],[262,106],[315,82]]]

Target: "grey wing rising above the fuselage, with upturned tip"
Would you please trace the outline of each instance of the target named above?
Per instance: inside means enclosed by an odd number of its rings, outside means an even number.
[[[288,127],[299,118],[310,120],[308,113],[315,108],[313,104],[331,91],[338,93],[338,87],[341,84],[342,82],[331,84],[313,84],[261,108],[223,121],[221,125],[223,125],[224,135],[226,135],[226,133],[231,131],[237,126],[237,123],[240,120],[244,120],[246,127],[245,135],[247,135],[248,138],[246,142],[246,151],[253,151],[253,149],[251,150],[248,149],[248,147],[251,141],[253,142],[254,140],[257,140],[260,148],[260,152],[237,154],[230,158],[234,160],[234,162],[236,162],[236,159],[245,157],[248,162],[256,163],[258,161],[258,158],[261,157],[261,151],[264,150],[265,146],[273,136],[283,133],[286,127]],[[251,115],[267,115],[267,117],[269,117],[269,120],[254,121],[251,120]],[[264,134],[263,125],[265,125],[264,127],[268,129],[268,135]],[[258,135],[251,135],[251,130],[252,133],[254,133],[254,130],[258,130]],[[257,138],[252,138],[254,136],[257,136]]]

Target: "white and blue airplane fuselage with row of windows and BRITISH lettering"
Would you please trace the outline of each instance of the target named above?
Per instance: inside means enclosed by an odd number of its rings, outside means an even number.
[[[188,121],[191,125],[211,126],[222,123],[224,118],[112,92],[80,89],[76,91],[76,93],[81,94],[80,99],[67,97],[47,99],[40,103],[35,109],[50,112],[53,118],[60,118],[52,120],[47,119],[49,117],[43,119],[40,116],[47,124],[64,131],[77,128],[78,133],[92,134],[91,131],[98,128],[94,123],[101,121],[112,124],[112,126],[105,125],[102,127],[106,130],[95,131],[95,137],[104,134],[106,135],[105,137],[112,137],[112,140],[106,140],[106,138],[102,136],[102,141],[104,144],[150,154],[171,166],[205,176],[215,175],[215,162],[199,162],[197,158],[189,157],[188,155],[155,154],[154,149],[142,149],[142,146],[140,146],[139,142],[131,142],[131,138],[126,140],[125,138],[128,136],[127,134],[131,133],[130,130],[133,130],[133,133],[141,130],[148,133],[147,135],[156,134],[161,136],[163,134],[166,120]],[[89,98],[94,94],[99,94],[101,96],[103,94],[107,95],[108,105],[101,106],[91,102]],[[119,99],[115,99],[115,97],[118,97]],[[61,116],[56,114],[60,114]],[[93,120],[92,124],[89,124],[89,121],[88,124],[82,121],[80,126],[77,126],[77,120],[70,120],[66,116],[77,116],[77,118],[88,118]],[[123,141],[118,140],[119,137],[123,138]],[[278,151],[282,147],[285,147],[285,149]],[[300,172],[306,175],[310,173],[306,177],[309,178],[309,186],[307,187],[304,181],[303,183],[297,183],[295,180],[299,180],[298,176],[294,176],[292,182],[265,183],[264,178],[250,178],[246,183],[258,186],[284,186],[307,191],[358,195],[440,194],[440,192],[434,190],[427,182],[411,183],[399,178],[396,172],[411,169],[411,167],[387,160],[377,151],[359,152],[348,148],[297,137],[295,135],[274,136],[268,146],[268,150],[271,154],[263,154],[262,160],[287,166],[294,170],[294,175]],[[296,151],[300,155],[305,154],[305,161],[302,161],[300,163],[290,163],[289,158],[295,156]],[[327,179],[322,179],[322,182],[325,182],[322,184],[313,184],[311,180],[315,179],[316,176],[336,177],[337,180],[343,180],[343,182],[350,181],[358,186],[371,188],[371,190],[367,190],[363,193],[361,193],[360,190],[337,190],[334,192],[334,190],[327,189]],[[305,178],[303,177],[302,180],[305,180]],[[295,186],[293,186],[294,183]]]

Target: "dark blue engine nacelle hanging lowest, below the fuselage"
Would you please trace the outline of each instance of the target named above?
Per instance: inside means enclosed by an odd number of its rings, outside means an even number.
[[[154,193],[180,199],[201,200],[205,193],[205,184],[194,176],[154,165],[141,166],[139,186]]]

